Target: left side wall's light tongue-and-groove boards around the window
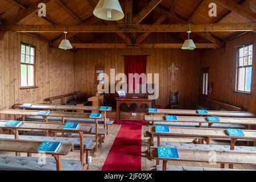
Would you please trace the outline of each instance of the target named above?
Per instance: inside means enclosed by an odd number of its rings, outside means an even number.
[[[20,42],[36,46],[35,89],[20,89]],[[0,40],[0,109],[15,103],[42,103],[44,98],[74,91],[73,53],[49,48],[48,43],[7,32]]]

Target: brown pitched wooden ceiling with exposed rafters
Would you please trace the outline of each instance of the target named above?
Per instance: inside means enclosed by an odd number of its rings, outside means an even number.
[[[47,16],[45,18],[40,18],[36,14],[38,4],[42,2],[46,3]],[[41,25],[50,27],[49,30],[52,30],[53,25],[62,25],[57,27],[61,27],[64,31],[63,25],[65,24],[68,25],[68,39],[77,48],[126,48],[130,44],[137,47],[179,48],[183,41],[187,39],[185,30],[187,30],[188,23],[192,24],[192,31],[194,30],[191,37],[198,43],[197,47],[200,48],[220,47],[226,40],[242,34],[243,30],[255,31],[256,0],[120,0],[125,18],[118,22],[96,18],[93,15],[93,10],[97,2],[97,0],[1,0],[0,22],[2,25],[0,25],[0,31],[1,29],[2,31],[8,31],[8,28],[11,31],[26,30],[28,27],[32,28],[31,25],[35,25],[34,28],[38,28],[37,30],[43,30],[42,27],[39,27]],[[209,17],[208,15],[208,6],[212,2],[217,4],[217,17]],[[118,31],[120,27],[127,27],[126,24],[143,31]],[[151,24],[154,24],[154,29],[148,28],[150,27],[148,25]],[[195,24],[195,27],[193,27],[193,24]],[[218,24],[224,24],[225,26],[218,26]],[[230,28],[232,24],[234,26]],[[30,26],[21,28],[20,25]],[[79,26],[76,28],[75,25]],[[112,31],[104,31],[103,25],[108,25],[105,26],[108,27],[108,30],[109,27],[113,27]],[[92,27],[90,28],[92,30],[85,31],[89,27]],[[213,29],[212,27],[218,27],[219,29]],[[73,28],[73,32],[70,31],[71,28]],[[199,31],[195,32],[195,30]],[[204,30],[210,31],[204,32]],[[64,38],[61,31],[58,29],[58,31],[51,32],[24,32],[57,46]],[[159,34],[159,32],[162,32],[161,34],[171,34],[179,41],[175,44],[144,43],[148,35]],[[120,41],[112,42],[111,45],[106,42],[100,42],[102,43],[101,46],[95,44],[98,43],[101,36],[105,35],[119,36]]]

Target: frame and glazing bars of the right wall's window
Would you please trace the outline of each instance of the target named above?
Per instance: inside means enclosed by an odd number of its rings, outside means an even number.
[[[252,93],[252,91],[250,90],[250,92],[248,92],[248,91],[245,91],[245,90],[239,90],[238,89],[238,80],[239,80],[239,73],[240,73],[240,69],[241,68],[249,68],[249,67],[251,67],[251,69],[252,69],[252,72],[251,72],[251,83],[250,84],[252,84],[252,82],[253,82],[253,64],[254,64],[254,49],[253,49],[253,54],[251,55],[252,57],[253,57],[253,63],[252,63],[252,65],[243,65],[243,66],[240,66],[239,64],[239,61],[240,61],[240,49],[241,48],[243,48],[243,49],[245,49],[245,47],[250,47],[250,46],[252,46],[253,47],[253,43],[248,43],[248,44],[244,44],[244,45],[242,45],[242,46],[238,46],[237,47],[237,67],[236,67],[236,90],[235,90],[235,92],[237,92],[237,93],[244,93],[244,94],[251,94]],[[244,50],[243,50],[244,51]],[[249,52],[249,49],[248,49],[248,52]],[[246,56],[244,56],[243,55],[243,59],[245,58]],[[248,61],[249,61],[249,55],[247,56],[248,57]],[[245,76],[245,78],[244,79],[246,79],[246,76]],[[246,84],[246,81],[245,81],[245,84]],[[244,88],[246,88],[246,85],[244,85]],[[252,87],[251,87],[251,89],[252,89]]]

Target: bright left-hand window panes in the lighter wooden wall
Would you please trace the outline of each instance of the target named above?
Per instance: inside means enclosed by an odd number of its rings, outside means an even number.
[[[35,47],[21,43],[20,50],[20,85],[31,88],[35,86]]]

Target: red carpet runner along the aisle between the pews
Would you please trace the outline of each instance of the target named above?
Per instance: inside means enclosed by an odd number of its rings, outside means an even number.
[[[102,171],[141,171],[141,132],[145,122],[121,122]]]

